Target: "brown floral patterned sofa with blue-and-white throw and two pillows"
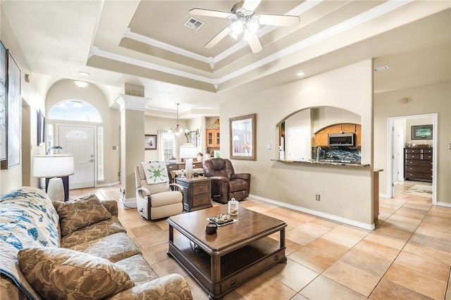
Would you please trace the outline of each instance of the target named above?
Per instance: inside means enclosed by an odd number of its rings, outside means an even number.
[[[1,299],[192,299],[158,278],[117,218],[116,201],[51,202],[37,188],[0,197]]]

